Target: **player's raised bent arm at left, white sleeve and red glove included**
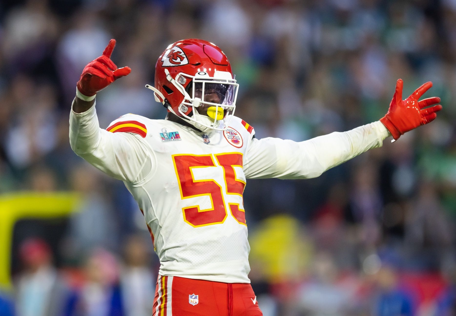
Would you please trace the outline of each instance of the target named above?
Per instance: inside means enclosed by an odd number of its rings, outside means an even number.
[[[151,166],[141,140],[144,136],[101,129],[94,106],[96,93],[130,73],[129,67],[117,68],[111,61],[114,46],[115,40],[109,41],[103,55],[88,63],[81,74],[70,113],[70,145],[77,155],[109,176],[138,182],[144,166]]]

